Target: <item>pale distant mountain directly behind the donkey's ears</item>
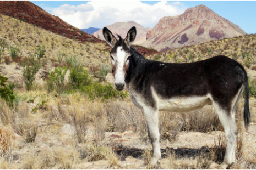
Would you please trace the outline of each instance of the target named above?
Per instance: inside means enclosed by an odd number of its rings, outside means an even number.
[[[139,44],[141,42],[146,41],[146,32],[151,30],[150,27],[144,28],[140,24],[134,22],[134,21],[129,21],[129,22],[116,22],[114,24],[106,26],[114,35],[118,34],[122,38],[126,38],[127,32],[131,27],[135,26],[137,29],[137,36],[133,44]],[[99,37],[102,40],[105,40],[103,33],[103,29],[100,29],[96,32],[94,32],[92,35],[95,37]]]

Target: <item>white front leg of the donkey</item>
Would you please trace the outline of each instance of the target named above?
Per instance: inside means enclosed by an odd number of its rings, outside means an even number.
[[[143,108],[146,123],[148,127],[148,134],[153,147],[152,160],[150,161],[151,166],[155,166],[160,163],[161,151],[159,145],[159,128],[158,128],[158,110],[152,107]]]

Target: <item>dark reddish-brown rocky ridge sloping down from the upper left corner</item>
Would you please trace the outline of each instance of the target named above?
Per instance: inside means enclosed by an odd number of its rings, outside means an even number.
[[[77,39],[80,42],[103,42],[88,33],[67,24],[58,16],[47,13],[42,8],[28,0],[1,0],[0,14],[28,22],[53,33],[58,33],[69,39]]]

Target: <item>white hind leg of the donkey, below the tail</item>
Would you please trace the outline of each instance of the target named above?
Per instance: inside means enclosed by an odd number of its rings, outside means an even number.
[[[227,139],[226,154],[223,163],[220,165],[221,169],[226,169],[230,168],[236,161],[234,156],[236,151],[236,139],[238,131],[236,127],[235,116],[233,116],[232,110],[224,109],[217,102],[213,102],[213,106],[219,116]]]

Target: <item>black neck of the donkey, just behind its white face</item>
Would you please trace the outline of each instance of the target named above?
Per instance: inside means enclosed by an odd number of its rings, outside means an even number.
[[[139,75],[145,69],[145,64],[148,61],[144,58],[143,55],[138,53],[135,49],[130,47],[130,52],[132,56],[130,57],[129,71],[126,77],[126,84],[129,84],[130,81],[136,76]]]

